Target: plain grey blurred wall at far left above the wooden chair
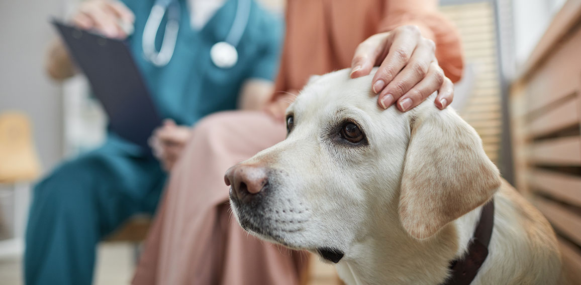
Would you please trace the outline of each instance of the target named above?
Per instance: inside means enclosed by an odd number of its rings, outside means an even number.
[[[54,37],[50,16],[62,15],[63,0],[0,1],[0,112],[31,117],[43,170],[62,157],[60,87],[45,75],[45,48]]]

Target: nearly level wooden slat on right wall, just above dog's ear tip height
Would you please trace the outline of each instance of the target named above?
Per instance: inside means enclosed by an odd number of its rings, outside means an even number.
[[[581,165],[581,138],[568,136],[534,143],[528,151],[532,163],[548,165]]]

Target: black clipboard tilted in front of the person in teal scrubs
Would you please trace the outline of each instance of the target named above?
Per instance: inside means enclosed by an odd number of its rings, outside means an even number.
[[[148,139],[162,120],[125,41],[52,20],[109,117],[109,128],[151,154]]]

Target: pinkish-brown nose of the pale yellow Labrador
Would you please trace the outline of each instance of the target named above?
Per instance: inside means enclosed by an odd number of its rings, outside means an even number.
[[[242,200],[259,193],[267,181],[267,169],[256,165],[237,164],[224,175],[226,185],[232,185],[232,192]]]

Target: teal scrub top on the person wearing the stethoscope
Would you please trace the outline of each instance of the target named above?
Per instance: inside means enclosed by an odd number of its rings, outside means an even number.
[[[123,1],[135,14],[135,30],[128,43],[162,118],[193,125],[208,114],[235,109],[246,80],[274,80],[284,33],[282,19],[252,1],[248,26],[236,46],[238,62],[231,68],[220,68],[211,61],[210,48],[226,38],[238,0],[227,0],[201,30],[191,26],[187,1],[177,1],[181,6],[180,29],[173,57],[162,67],[145,59],[141,43],[155,0]],[[163,19],[157,32],[157,50],[162,43],[166,20]],[[142,151],[115,134],[109,135],[106,145],[123,147],[136,154]]]

